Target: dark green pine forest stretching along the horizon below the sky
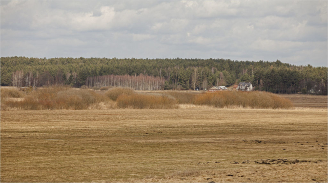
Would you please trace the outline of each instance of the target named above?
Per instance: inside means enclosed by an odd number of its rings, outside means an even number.
[[[297,66],[279,60],[1,57],[2,86],[81,87],[99,78],[95,76],[109,75],[160,78],[164,81],[157,82],[161,89],[209,89],[251,82],[256,90],[272,93],[327,94],[327,67]]]

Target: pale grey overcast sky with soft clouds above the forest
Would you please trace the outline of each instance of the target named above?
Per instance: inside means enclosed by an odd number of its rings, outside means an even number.
[[[1,56],[327,66],[327,1],[1,1]]]

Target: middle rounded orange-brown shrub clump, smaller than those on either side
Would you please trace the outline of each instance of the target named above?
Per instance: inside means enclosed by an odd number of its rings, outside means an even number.
[[[176,101],[165,96],[155,95],[120,95],[116,100],[119,108],[134,109],[172,109],[177,108]]]

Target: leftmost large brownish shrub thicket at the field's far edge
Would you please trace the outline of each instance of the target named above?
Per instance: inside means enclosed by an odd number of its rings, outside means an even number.
[[[28,93],[24,100],[5,100],[2,106],[24,110],[88,109],[91,105],[109,101],[93,90],[76,90],[66,87],[42,88]],[[4,110],[2,109],[2,110]]]

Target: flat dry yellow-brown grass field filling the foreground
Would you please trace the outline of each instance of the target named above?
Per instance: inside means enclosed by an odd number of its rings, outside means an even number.
[[[1,181],[327,182],[327,111],[2,111]]]

